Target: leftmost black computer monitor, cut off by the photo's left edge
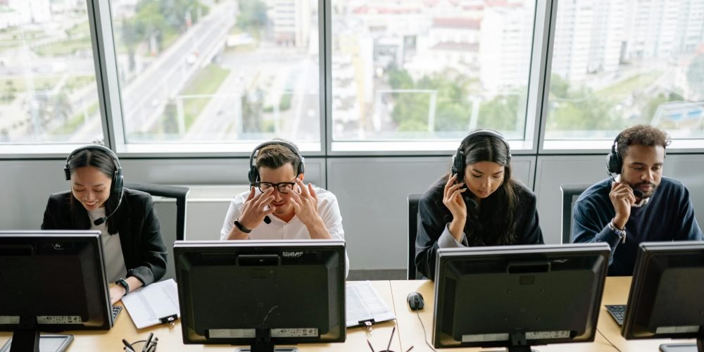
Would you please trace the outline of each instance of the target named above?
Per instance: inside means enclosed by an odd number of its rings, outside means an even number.
[[[0,231],[0,330],[11,351],[39,351],[39,331],[110,329],[99,231]]]

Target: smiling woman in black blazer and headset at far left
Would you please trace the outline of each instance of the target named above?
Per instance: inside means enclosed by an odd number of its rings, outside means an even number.
[[[49,196],[42,230],[101,230],[111,303],[163,277],[166,246],[151,196],[122,187],[115,153],[103,146],[76,149],[66,159],[71,190]]]

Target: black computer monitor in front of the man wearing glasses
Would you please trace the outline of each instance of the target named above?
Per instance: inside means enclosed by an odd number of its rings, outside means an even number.
[[[338,240],[176,241],[184,344],[270,352],[344,341],[344,249]]]

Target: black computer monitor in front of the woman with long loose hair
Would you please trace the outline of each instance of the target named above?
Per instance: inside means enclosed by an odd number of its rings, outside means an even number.
[[[608,244],[439,249],[435,347],[593,341]]]

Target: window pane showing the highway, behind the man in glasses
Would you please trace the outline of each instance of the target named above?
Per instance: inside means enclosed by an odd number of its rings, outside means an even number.
[[[320,143],[318,1],[111,4],[127,143]]]

